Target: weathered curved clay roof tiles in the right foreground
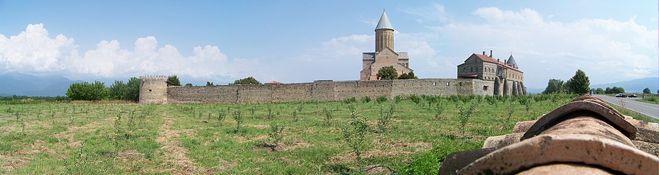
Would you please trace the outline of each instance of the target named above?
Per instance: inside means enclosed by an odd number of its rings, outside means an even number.
[[[439,174],[659,174],[659,124],[579,96],[481,150],[453,152]]]

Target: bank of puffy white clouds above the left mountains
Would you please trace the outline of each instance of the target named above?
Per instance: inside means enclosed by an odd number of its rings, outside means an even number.
[[[103,40],[80,55],[73,38],[50,38],[43,24],[28,25],[10,38],[0,35],[1,72],[63,72],[82,79],[162,74],[230,81],[251,73],[256,64],[253,59],[229,60],[218,46],[196,46],[193,55],[184,56],[175,46],[158,47],[154,36],[138,38],[130,50],[117,40]]]

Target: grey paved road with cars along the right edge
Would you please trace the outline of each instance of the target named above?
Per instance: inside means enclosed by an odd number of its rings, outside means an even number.
[[[645,116],[650,116],[652,118],[659,118],[659,105],[643,103],[636,101],[638,98],[616,98],[614,96],[605,96],[605,95],[594,95],[597,98],[607,101],[608,103],[613,103],[614,105],[620,106],[621,100],[625,103],[625,108],[636,111],[638,113],[643,113]]]

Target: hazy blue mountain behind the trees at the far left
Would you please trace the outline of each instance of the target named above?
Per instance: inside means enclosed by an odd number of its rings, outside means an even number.
[[[19,96],[66,96],[72,81],[66,77],[47,76],[36,77],[20,73],[0,75],[0,95]]]

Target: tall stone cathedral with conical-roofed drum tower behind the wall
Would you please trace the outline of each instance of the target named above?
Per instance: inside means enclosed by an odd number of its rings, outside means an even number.
[[[413,71],[409,64],[410,57],[407,52],[393,50],[393,27],[386,12],[382,12],[375,27],[375,52],[362,53],[360,80],[377,80],[378,70],[386,66],[393,66],[399,76],[408,74]]]

